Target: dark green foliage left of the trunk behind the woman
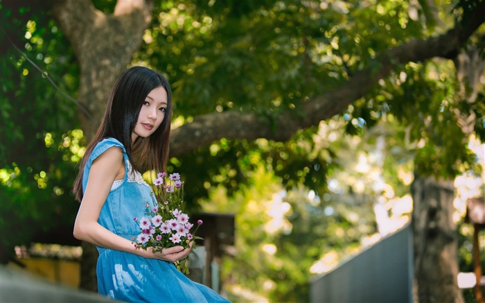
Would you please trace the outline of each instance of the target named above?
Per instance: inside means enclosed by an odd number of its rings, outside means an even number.
[[[78,65],[43,5],[17,1],[0,11],[1,261],[11,256],[13,245],[28,245],[36,234],[70,229],[78,207],[70,194],[79,159],[80,138],[69,131],[78,126],[76,108],[24,57],[75,96]]]

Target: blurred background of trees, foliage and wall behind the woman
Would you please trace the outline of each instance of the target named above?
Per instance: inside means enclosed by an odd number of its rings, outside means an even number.
[[[71,186],[143,65],[210,223],[195,279],[233,302],[483,302],[484,6],[0,1],[1,270],[96,291]]]

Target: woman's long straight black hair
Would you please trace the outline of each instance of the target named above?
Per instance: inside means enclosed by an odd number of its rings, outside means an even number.
[[[164,121],[150,137],[138,137],[132,142],[132,132],[138,120],[146,96],[155,88],[164,87],[167,92],[167,108]],[[131,67],[116,80],[106,106],[101,124],[86,148],[78,177],[73,184],[76,200],[82,200],[82,175],[87,159],[96,144],[112,137],[125,146],[128,159],[137,171],[164,171],[170,145],[170,120],[172,118],[172,92],[168,80],[159,72],[147,67]]]

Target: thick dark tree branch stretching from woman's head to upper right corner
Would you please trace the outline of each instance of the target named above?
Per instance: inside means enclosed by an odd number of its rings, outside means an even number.
[[[376,69],[364,69],[333,91],[315,96],[299,109],[303,115],[281,113],[274,121],[252,113],[222,112],[197,116],[172,131],[170,155],[179,156],[199,146],[221,139],[266,138],[286,141],[297,130],[318,125],[344,111],[351,103],[369,92],[378,80],[388,76],[398,64],[421,62],[434,57],[450,58],[464,46],[468,37],[485,21],[485,2],[477,4],[469,19],[447,33],[427,40],[412,40],[382,53]]]

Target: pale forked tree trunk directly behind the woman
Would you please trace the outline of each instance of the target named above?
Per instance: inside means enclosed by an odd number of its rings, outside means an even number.
[[[118,0],[112,15],[96,10],[91,0],[53,0],[53,17],[67,35],[80,64],[78,101],[85,139],[95,135],[111,87],[141,46],[151,20],[152,2]],[[94,245],[82,243],[80,288],[97,291]]]

